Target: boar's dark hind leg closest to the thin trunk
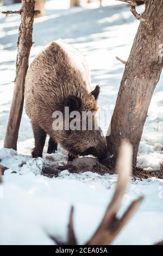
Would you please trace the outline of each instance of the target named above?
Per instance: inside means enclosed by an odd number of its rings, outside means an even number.
[[[42,157],[42,151],[46,140],[46,132],[35,123],[32,123],[32,127],[35,138],[35,148],[32,151],[32,157]]]

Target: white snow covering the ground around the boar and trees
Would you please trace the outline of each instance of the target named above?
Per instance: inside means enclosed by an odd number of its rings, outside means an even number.
[[[82,8],[68,8],[67,0],[46,3],[46,16],[34,22],[30,62],[47,42],[62,38],[82,51],[91,69],[92,84],[101,85],[99,105],[111,118],[124,66],[115,56],[127,60],[139,26],[126,4],[98,1]],[[1,7],[17,9],[19,4]],[[20,127],[18,150],[2,149],[15,78],[18,15],[0,15],[0,159],[9,169],[0,185],[0,244],[53,244],[47,234],[66,239],[68,214],[74,205],[74,227],[79,243],[84,243],[101,220],[114,192],[116,175],[61,172],[58,178],[41,175],[46,161],[31,159],[33,132],[25,112]],[[159,169],[163,160],[163,89],[161,75],[149,108],[140,143],[138,165]],[[102,126],[104,132],[109,125]],[[47,144],[46,144],[47,145]],[[21,155],[20,155],[21,154]],[[56,161],[66,159],[59,149]],[[20,175],[21,174],[21,175]],[[163,180],[131,180],[121,212],[139,196],[145,196],[139,210],[114,240],[119,244],[153,244],[163,239]],[[131,232],[132,230],[132,232]]]

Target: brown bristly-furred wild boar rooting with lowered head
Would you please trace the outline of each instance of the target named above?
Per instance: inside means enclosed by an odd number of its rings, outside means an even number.
[[[46,134],[50,136],[48,153],[55,152],[59,143],[72,156],[104,155],[106,141],[101,130],[54,131],[52,127],[53,112],[64,112],[66,102],[77,99],[80,113],[96,112],[99,87],[91,90],[86,60],[71,45],[62,40],[53,41],[35,57],[25,83],[26,112],[35,137],[33,157],[42,156]]]

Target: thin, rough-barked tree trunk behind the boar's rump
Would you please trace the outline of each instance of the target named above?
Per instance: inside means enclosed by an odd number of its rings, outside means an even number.
[[[22,117],[24,102],[24,82],[28,69],[30,48],[32,47],[32,32],[35,1],[22,0],[21,25],[18,37],[18,52],[16,60],[15,89],[12,98],[4,148],[17,149],[18,130]]]

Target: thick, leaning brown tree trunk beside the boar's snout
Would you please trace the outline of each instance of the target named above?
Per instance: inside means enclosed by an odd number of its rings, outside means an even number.
[[[163,0],[146,1],[111,118],[110,135],[106,137],[115,158],[122,138],[134,147],[134,165],[147,118],[149,103],[162,70],[160,44],[163,43]]]

